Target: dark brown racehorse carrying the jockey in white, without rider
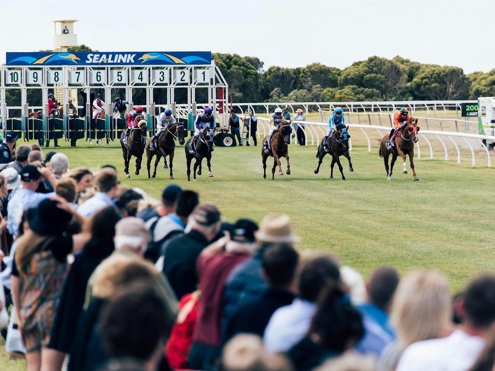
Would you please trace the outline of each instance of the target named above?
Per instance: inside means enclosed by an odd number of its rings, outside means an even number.
[[[151,139],[146,143],[146,156],[148,157],[148,163],[146,164],[148,167],[148,178],[154,178],[156,176],[156,166],[160,162],[161,156],[165,157],[169,156],[170,162],[170,179],[174,179],[172,175],[172,160],[174,159],[174,151],[175,151],[175,139],[179,139],[179,144],[184,144],[184,125],[182,124],[174,124],[169,128],[164,130],[164,133],[160,135],[160,137],[156,140],[156,150],[150,150],[149,145],[151,144]],[[155,160],[155,169],[153,171],[153,176],[149,176],[149,167],[151,163],[151,159],[156,155]]]

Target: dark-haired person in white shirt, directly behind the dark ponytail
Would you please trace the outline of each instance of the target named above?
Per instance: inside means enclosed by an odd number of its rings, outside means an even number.
[[[303,263],[298,282],[298,297],[291,305],[279,308],[270,318],[263,344],[271,353],[287,352],[308,332],[316,313],[316,300],[328,281],[339,281],[340,271],[331,255],[317,255]]]

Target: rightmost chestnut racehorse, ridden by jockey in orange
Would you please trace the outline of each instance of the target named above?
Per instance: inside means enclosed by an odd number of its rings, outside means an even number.
[[[402,170],[402,174],[407,174],[407,168],[405,165],[405,156],[409,156],[409,162],[411,165],[412,176],[415,181],[419,181],[419,178],[416,177],[416,171],[414,170],[414,143],[418,141],[418,119],[413,119],[412,117],[409,119],[409,122],[404,126],[403,129],[398,129],[399,132],[394,139],[395,145],[387,149],[387,139],[388,136],[385,136],[380,140],[380,150],[378,154],[380,157],[383,157],[383,161],[385,163],[385,170],[387,171],[387,180],[390,181],[390,177],[392,176],[392,169],[394,169],[394,163],[396,162],[397,156],[402,157],[402,161],[404,162],[404,168]],[[390,163],[390,172],[389,172],[389,155],[392,154],[392,162]]]

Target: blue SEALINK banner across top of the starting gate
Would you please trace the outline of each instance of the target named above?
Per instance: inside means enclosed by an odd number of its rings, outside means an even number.
[[[211,51],[7,52],[7,66],[119,66],[211,64]]]

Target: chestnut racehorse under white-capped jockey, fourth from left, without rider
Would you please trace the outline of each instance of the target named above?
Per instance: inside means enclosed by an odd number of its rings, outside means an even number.
[[[275,168],[279,167],[279,175],[284,175],[280,167],[280,157],[287,160],[287,175],[291,175],[291,164],[289,164],[289,143],[291,142],[292,127],[290,124],[279,125],[273,133],[268,153],[265,153],[263,146],[268,136],[263,138],[261,145],[261,159],[263,160],[263,179],[266,179],[266,160],[269,156],[273,157],[272,180],[275,179]]]

